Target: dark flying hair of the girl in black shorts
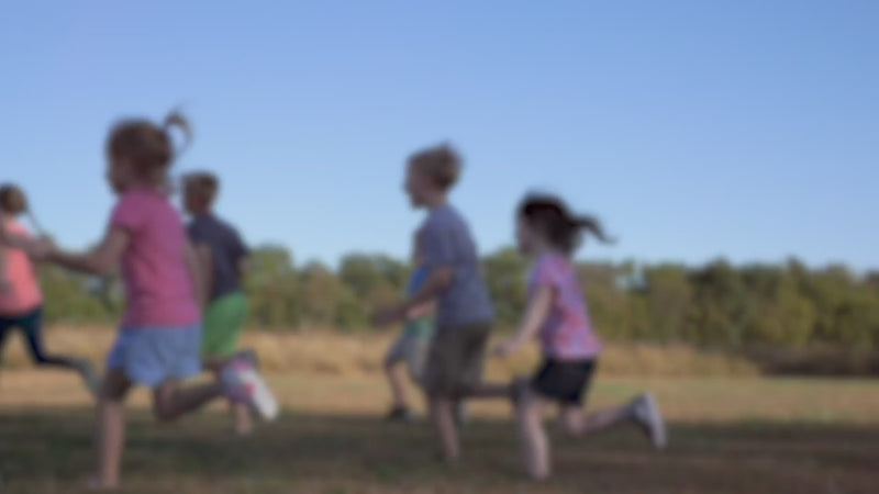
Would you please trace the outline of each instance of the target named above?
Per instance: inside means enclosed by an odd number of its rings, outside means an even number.
[[[553,247],[567,254],[574,254],[580,246],[583,233],[594,235],[603,244],[614,242],[596,217],[572,214],[565,202],[555,195],[527,195],[519,206],[519,215],[545,235]]]

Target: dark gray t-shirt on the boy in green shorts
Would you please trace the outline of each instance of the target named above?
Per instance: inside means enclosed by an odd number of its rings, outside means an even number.
[[[192,218],[187,228],[189,238],[196,245],[202,244],[211,249],[213,262],[213,285],[211,301],[242,289],[238,265],[249,250],[238,232],[229,223],[210,214]]]

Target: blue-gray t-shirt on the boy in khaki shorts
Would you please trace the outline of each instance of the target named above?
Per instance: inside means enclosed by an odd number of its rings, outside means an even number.
[[[421,235],[426,268],[449,267],[454,272],[452,287],[437,302],[437,327],[492,323],[494,308],[482,280],[476,243],[464,217],[450,205],[435,207],[427,215]]]

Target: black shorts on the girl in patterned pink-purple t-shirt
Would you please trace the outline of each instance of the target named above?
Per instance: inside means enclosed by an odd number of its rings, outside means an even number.
[[[582,405],[596,360],[545,360],[531,379],[531,388],[541,396],[560,405]]]

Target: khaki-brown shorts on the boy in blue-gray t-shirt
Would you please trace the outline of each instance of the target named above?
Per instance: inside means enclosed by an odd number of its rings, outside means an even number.
[[[427,355],[424,391],[460,397],[482,382],[491,323],[437,328]]]

